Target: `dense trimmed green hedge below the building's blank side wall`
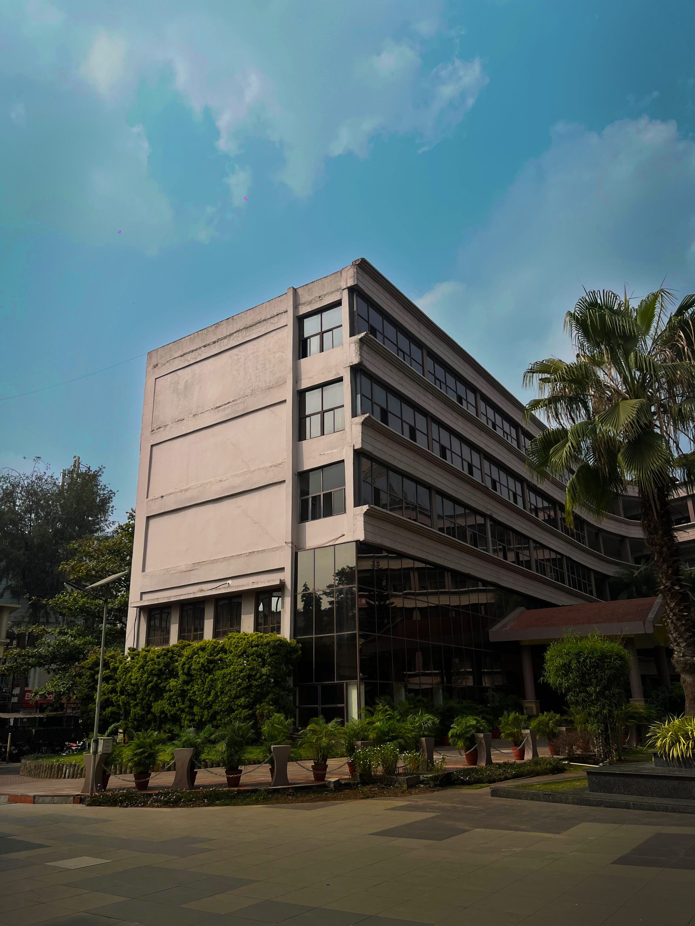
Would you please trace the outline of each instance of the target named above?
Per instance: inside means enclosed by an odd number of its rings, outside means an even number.
[[[274,633],[230,633],[223,640],[108,653],[102,688],[102,729],[224,726],[259,714],[292,711],[291,674],[299,645]],[[82,664],[82,716],[94,717],[98,657]]]

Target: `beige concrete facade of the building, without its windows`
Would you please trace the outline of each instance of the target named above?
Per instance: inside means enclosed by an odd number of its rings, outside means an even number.
[[[430,382],[426,369],[411,369],[372,333],[358,333],[356,294],[468,382],[478,395],[476,413]],[[340,307],[342,344],[301,358],[302,319],[327,307]],[[596,600],[605,595],[604,577],[632,561],[631,550],[641,543],[638,521],[616,515],[601,523],[604,539],[594,548],[580,543],[535,517],[525,502],[513,504],[436,456],[432,444],[424,447],[360,414],[358,369],[524,481],[525,499],[532,483],[524,451],[486,424],[479,397],[491,400],[520,435],[521,403],[372,265],[355,261],[148,355],[127,646],[146,644],[148,611],[162,606],[171,611],[169,639],[176,642],[182,603],[191,602],[204,607],[203,633],[211,637],[216,599],[236,594],[240,629],[251,631],[264,590],[280,595],[281,631],[290,636],[295,555],[334,544],[383,546],[551,605]],[[300,441],[300,394],[335,382],[342,383],[344,430]],[[523,425],[528,436],[540,427]],[[446,494],[517,532],[530,550],[542,544],[580,564],[593,577],[590,591],[500,558],[489,543],[483,550],[437,531],[436,511],[430,527],[362,504],[355,471],[361,454],[423,482],[433,499]],[[298,474],[337,461],[345,463],[345,513],[301,521]],[[539,491],[562,504],[561,482],[546,482]],[[606,556],[604,545],[620,558]]]

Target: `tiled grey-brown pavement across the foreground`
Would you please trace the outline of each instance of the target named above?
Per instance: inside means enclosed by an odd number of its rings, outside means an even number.
[[[487,789],[44,807],[0,806],[2,926],[695,926],[689,816]]]

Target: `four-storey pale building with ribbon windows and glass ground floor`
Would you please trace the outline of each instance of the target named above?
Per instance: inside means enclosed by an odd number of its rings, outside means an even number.
[[[523,694],[491,627],[645,555],[634,499],[565,523],[524,468],[541,428],[364,259],[153,351],[127,645],[293,637],[300,723]]]

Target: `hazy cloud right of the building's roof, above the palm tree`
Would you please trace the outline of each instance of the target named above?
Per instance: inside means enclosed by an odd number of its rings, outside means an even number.
[[[685,294],[694,270],[695,142],[647,117],[559,125],[461,247],[457,279],[417,301],[521,394],[530,361],[566,354],[582,286],[644,294],[665,276]]]

